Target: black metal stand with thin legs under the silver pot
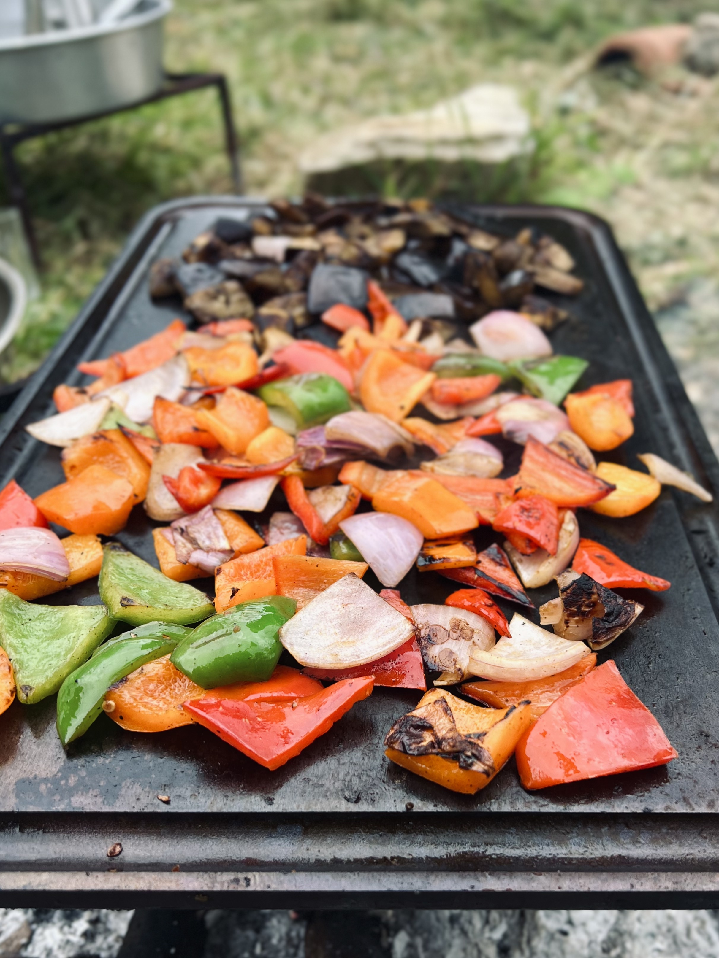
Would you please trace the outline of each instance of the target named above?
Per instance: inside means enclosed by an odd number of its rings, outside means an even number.
[[[46,133],[54,133],[58,129],[66,129],[68,126],[90,123],[92,120],[101,120],[103,117],[112,116],[115,113],[124,113],[126,110],[133,110],[138,106],[145,106],[147,103],[158,103],[161,100],[168,100],[170,97],[177,97],[183,93],[193,93],[195,90],[202,90],[208,86],[216,86],[218,94],[220,95],[225,149],[227,150],[227,156],[230,161],[230,170],[235,192],[239,194],[242,192],[242,175],[239,160],[240,143],[232,119],[230,91],[227,86],[227,80],[225,80],[221,73],[169,73],[165,75],[164,85],[156,93],[153,93],[151,97],[146,97],[145,100],[140,100],[137,103],[128,103],[127,106],[121,106],[112,110],[104,110],[102,113],[93,113],[90,116],[75,117],[73,120],[62,120],[58,123],[43,124],[0,124],[0,152],[2,153],[3,165],[5,167],[10,201],[12,206],[16,206],[20,211],[20,217],[22,217],[23,226],[36,266],[39,267],[41,265],[40,252],[33,228],[33,220],[30,216],[28,195],[25,192],[20,171],[15,162],[15,147],[25,140],[45,136]]]

